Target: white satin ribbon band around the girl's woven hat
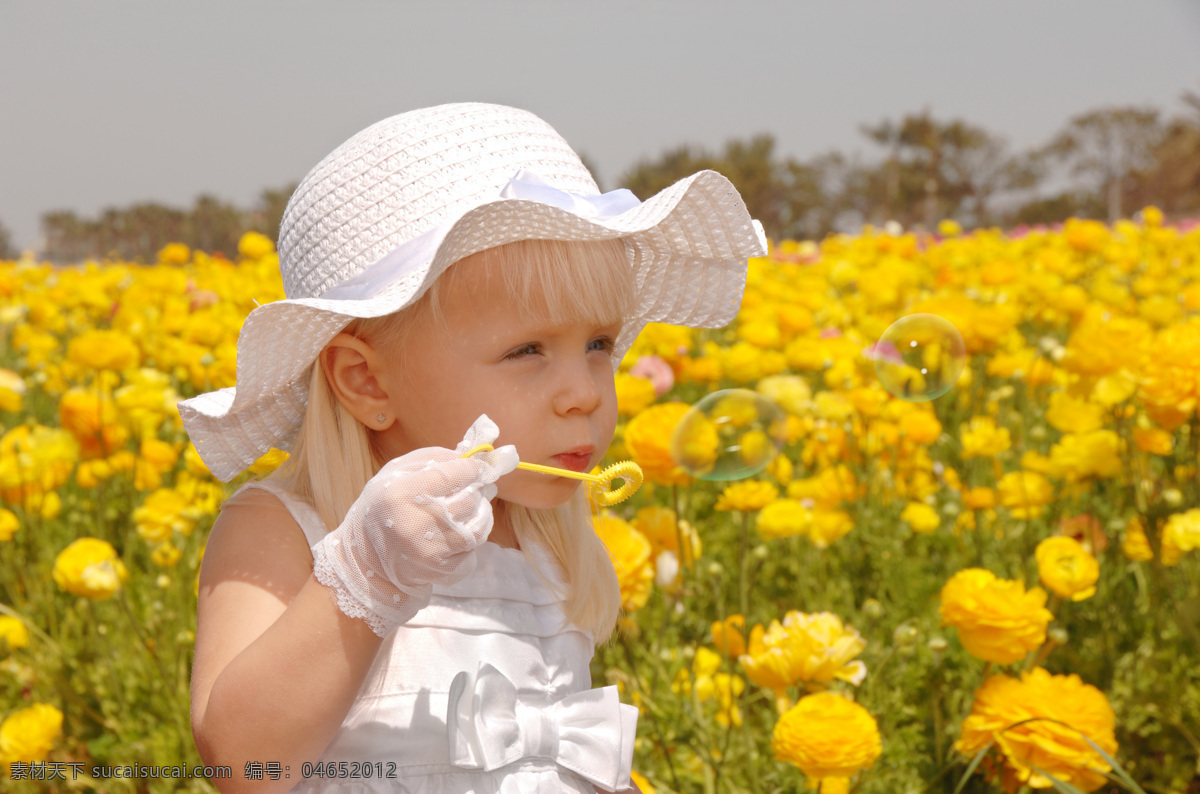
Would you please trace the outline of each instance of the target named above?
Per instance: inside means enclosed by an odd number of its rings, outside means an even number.
[[[642,204],[632,191],[624,187],[598,196],[560,191],[534,172],[524,168],[518,170],[508,185],[500,188],[497,198],[548,204],[589,221],[607,221]],[[389,284],[432,261],[438,252],[438,246],[442,245],[455,222],[457,218],[402,242],[362,272],[325,290],[320,297],[323,300],[354,301],[374,297]]]

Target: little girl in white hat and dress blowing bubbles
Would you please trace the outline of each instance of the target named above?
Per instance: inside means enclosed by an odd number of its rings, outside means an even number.
[[[637,711],[590,688],[619,590],[574,479],[617,423],[647,323],[715,327],[761,227],[701,172],[600,194],[545,121],[385,119],[296,188],[288,299],[238,386],[180,403],[229,481],[200,570],[192,730],[223,792],[631,789]],[[464,457],[480,444],[492,451]]]

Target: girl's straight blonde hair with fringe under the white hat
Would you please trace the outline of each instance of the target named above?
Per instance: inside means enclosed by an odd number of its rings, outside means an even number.
[[[498,265],[496,285],[488,277],[488,300],[512,306],[522,319],[541,318],[553,325],[608,324],[625,318],[634,306],[634,279],[622,240],[565,242],[522,240],[478,254],[484,265]],[[466,272],[463,272],[466,270]],[[451,265],[415,302],[380,318],[358,319],[346,332],[371,344],[395,345],[403,351],[414,327],[436,323],[445,331],[444,295],[470,272],[493,267],[461,269]],[[367,481],[386,463],[379,434],[365,427],[342,407],[325,378],[320,359],[308,383],[308,405],[288,461],[271,476],[307,499],[328,529],[341,524]],[[563,593],[566,618],[592,632],[596,644],[611,634],[620,608],[620,588],[607,548],[595,535],[596,512],[587,489],[580,487],[565,504],[552,510],[530,510],[498,503],[506,511],[518,545],[545,547],[566,575]],[[533,560],[530,560],[533,561]],[[536,566],[535,566],[536,567]]]

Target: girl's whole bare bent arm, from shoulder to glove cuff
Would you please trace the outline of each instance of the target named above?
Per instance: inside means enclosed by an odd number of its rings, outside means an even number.
[[[232,780],[214,783],[263,793],[298,783],[382,642],[313,578],[304,533],[275,497],[223,509],[200,567],[192,670],[196,746],[205,764],[233,768]],[[246,762],[280,762],[292,777],[247,781]]]

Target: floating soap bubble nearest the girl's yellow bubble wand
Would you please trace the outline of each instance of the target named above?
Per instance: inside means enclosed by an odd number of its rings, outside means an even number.
[[[671,438],[671,457],[701,480],[740,480],[775,459],[787,416],[746,389],[714,391],[684,414]]]

